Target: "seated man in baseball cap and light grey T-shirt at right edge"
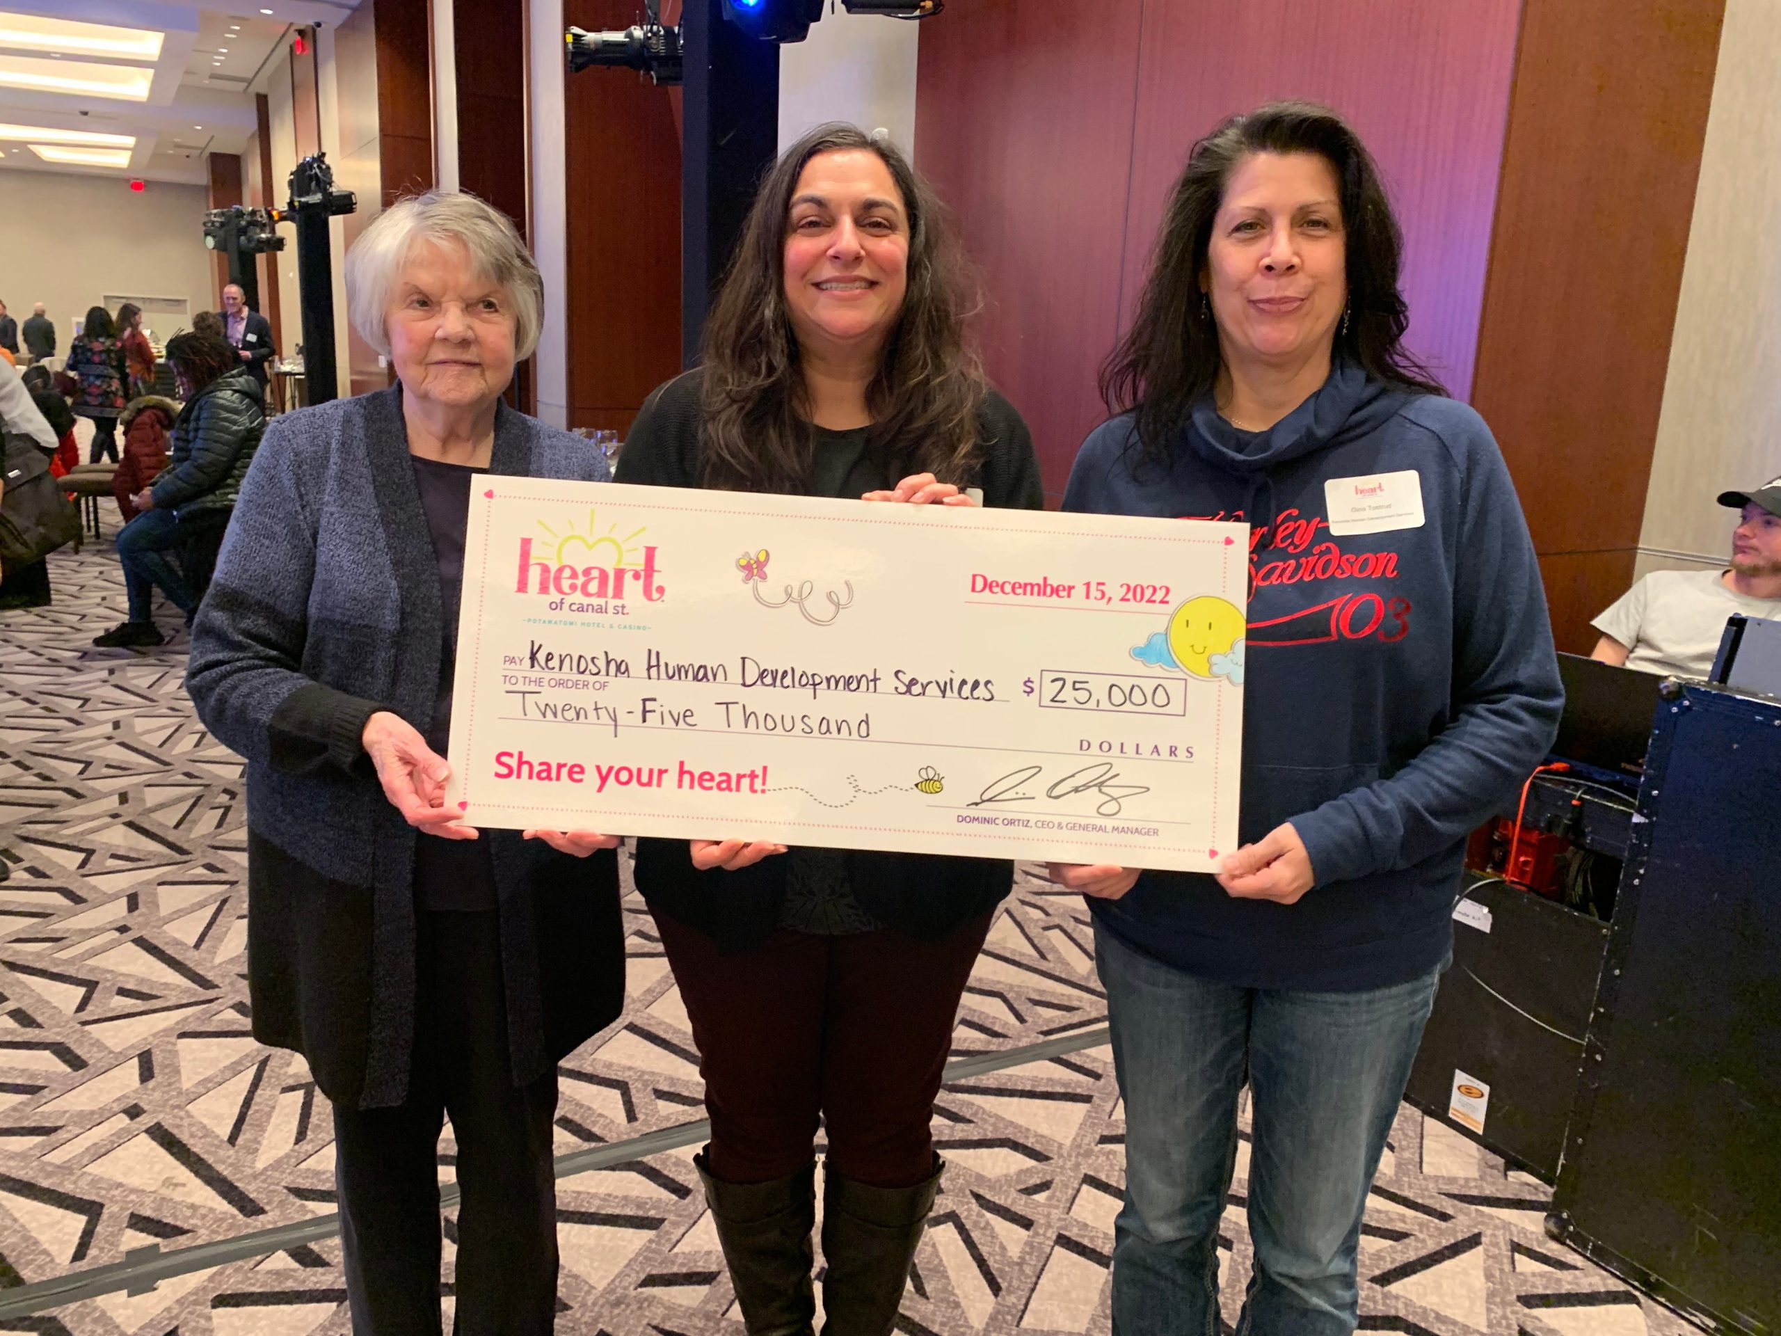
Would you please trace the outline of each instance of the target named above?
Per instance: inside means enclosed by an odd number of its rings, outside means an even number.
[[[1592,657],[1647,673],[1706,677],[1726,618],[1781,618],[1781,477],[1749,492],[1720,492],[1738,511],[1724,570],[1655,570],[1590,625]]]

